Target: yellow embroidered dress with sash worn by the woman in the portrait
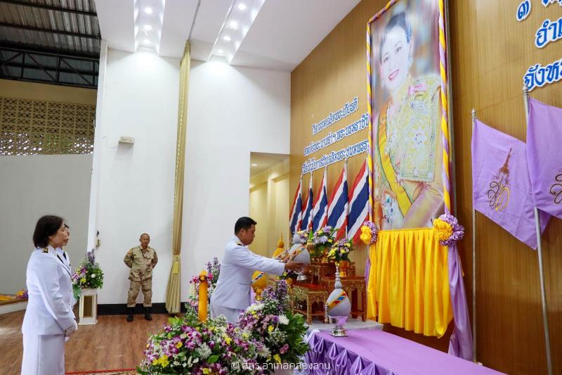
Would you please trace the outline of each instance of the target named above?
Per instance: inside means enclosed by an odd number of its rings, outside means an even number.
[[[374,220],[381,229],[431,227],[443,213],[440,80],[408,78],[373,127]]]

